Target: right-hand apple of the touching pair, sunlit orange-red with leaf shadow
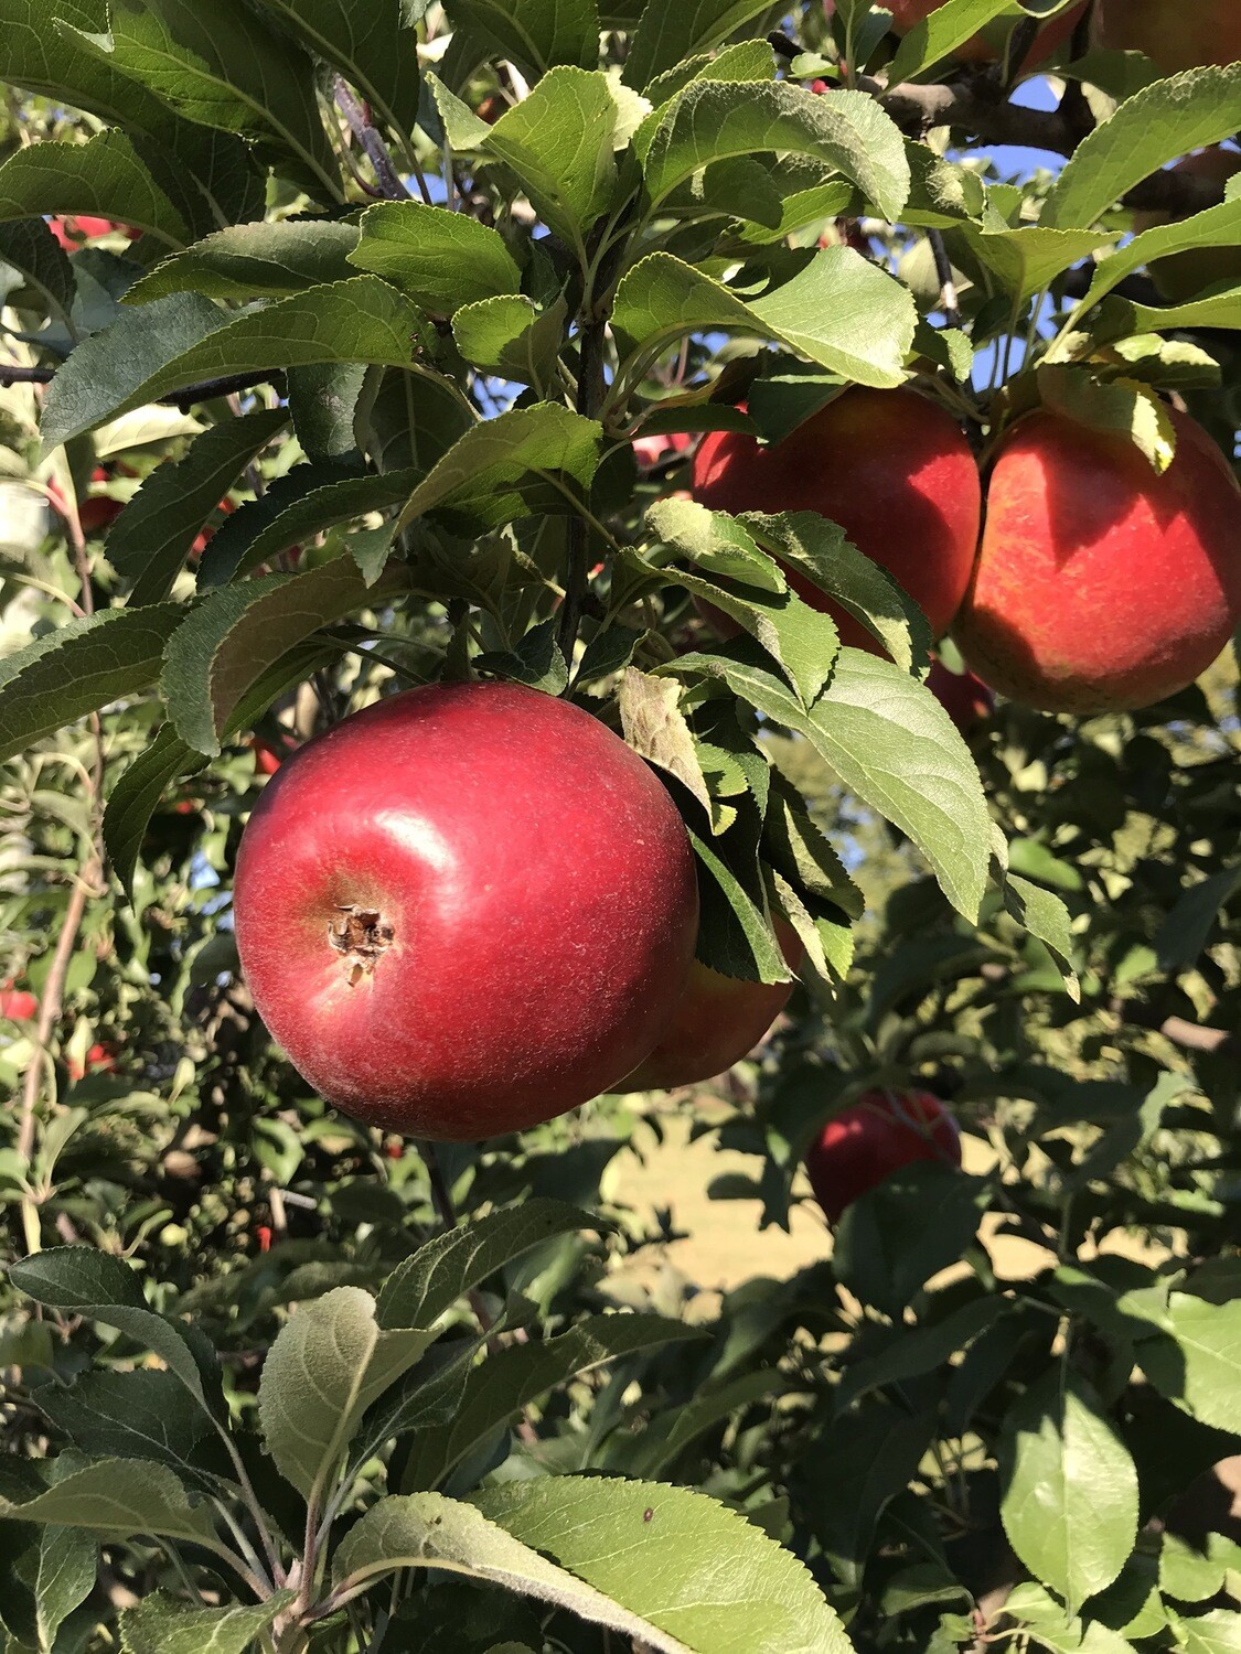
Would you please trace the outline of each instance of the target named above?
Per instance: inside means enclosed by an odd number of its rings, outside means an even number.
[[[1003,440],[953,637],[1001,695],[1044,711],[1150,706],[1205,672],[1241,620],[1241,490],[1172,412],[1157,476],[1124,435],[1041,410]]]

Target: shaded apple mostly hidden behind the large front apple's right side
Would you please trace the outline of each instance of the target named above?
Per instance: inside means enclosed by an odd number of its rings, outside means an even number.
[[[801,964],[801,943],[788,920],[776,920],[776,936],[789,968]],[[789,1002],[793,982],[743,982],[721,976],[698,959],[685,991],[650,1055],[620,1090],[670,1092],[725,1073],[763,1040]]]

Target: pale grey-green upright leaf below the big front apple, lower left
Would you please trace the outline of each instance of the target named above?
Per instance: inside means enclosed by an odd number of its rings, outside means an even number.
[[[434,1333],[384,1331],[376,1300],[336,1287],[303,1303],[263,1365],[258,1417],[280,1474],[309,1499],[339,1465],[362,1413],[425,1353]]]

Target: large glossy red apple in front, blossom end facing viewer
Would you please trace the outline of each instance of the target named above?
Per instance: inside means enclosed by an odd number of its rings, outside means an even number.
[[[281,764],[235,918],[263,1021],[328,1102],[470,1141],[632,1072],[685,987],[698,892],[672,799],[604,724],[445,683]]]

